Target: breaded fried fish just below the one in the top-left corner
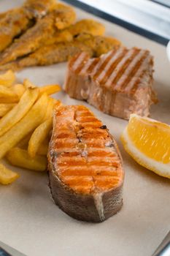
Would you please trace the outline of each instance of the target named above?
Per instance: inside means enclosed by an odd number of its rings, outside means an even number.
[[[56,4],[55,10],[38,20],[31,29],[16,39],[9,48],[4,50],[4,53],[1,53],[0,65],[34,52],[44,45],[45,41],[52,37],[57,29],[64,29],[74,23],[75,18],[76,15],[72,7]]]

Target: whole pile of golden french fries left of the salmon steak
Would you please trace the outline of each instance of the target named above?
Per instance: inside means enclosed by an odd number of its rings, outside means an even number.
[[[30,80],[15,82],[12,71],[0,75],[0,159],[30,170],[47,169],[47,150],[53,127],[53,107],[62,104],[50,97],[58,85],[37,87]],[[0,184],[19,177],[0,163]]]

